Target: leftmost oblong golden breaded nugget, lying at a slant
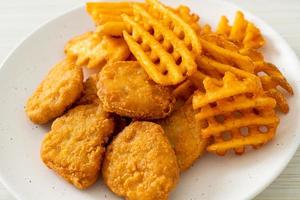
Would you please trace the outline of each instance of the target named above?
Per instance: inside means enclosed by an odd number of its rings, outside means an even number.
[[[31,121],[44,124],[62,115],[83,89],[82,69],[64,59],[48,73],[28,99],[25,110]]]

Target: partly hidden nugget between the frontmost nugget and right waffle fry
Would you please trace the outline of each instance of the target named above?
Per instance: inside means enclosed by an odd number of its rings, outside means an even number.
[[[180,171],[188,169],[208,144],[208,139],[200,135],[201,124],[196,121],[195,113],[192,105],[186,104],[159,122],[175,150]]]

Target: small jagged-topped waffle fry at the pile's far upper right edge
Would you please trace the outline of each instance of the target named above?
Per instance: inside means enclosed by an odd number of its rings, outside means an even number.
[[[265,44],[260,30],[253,23],[248,22],[240,11],[236,13],[232,27],[229,25],[229,20],[222,16],[217,33],[226,36],[230,41],[245,49],[258,49]]]

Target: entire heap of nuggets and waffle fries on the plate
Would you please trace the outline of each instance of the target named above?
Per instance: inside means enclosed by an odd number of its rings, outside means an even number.
[[[87,12],[95,31],[66,44],[26,105],[32,122],[54,120],[41,158],[74,186],[102,171],[126,199],[168,199],[205,152],[243,154],[274,138],[293,89],[242,12],[215,31],[157,0],[87,3]]]

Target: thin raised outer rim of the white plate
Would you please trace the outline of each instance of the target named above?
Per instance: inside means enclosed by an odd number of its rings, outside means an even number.
[[[97,0],[98,2],[103,2],[103,1],[113,1],[113,0]],[[129,0],[129,1],[133,1],[134,0]],[[139,0],[138,0],[139,1]],[[163,1],[163,0],[162,0]],[[206,0],[206,1],[212,1],[212,2],[221,2],[222,4],[226,4],[228,5],[228,7],[232,7],[235,10],[241,10],[246,16],[251,16],[252,19],[254,19],[256,22],[258,22],[259,24],[263,24],[265,27],[267,28],[269,31],[272,32],[273,36],[276,36],[276,39],[281,41],[282,44],[285,45],[285,48],[289,51],[289,53],[291,53],[290,56],[293,57],[293,60],[296,62],[296,65],[300,67],[300,60],[296,54],[296,52],[293,50],[293,48],[289,45],[289,43],[287,42],[287,40],[282,37],[275,29],[272,28],[271,25],[269,25],[265,20],[263,20],[262,18],[258,17],[257,15],[253,14],[252,12],[250,12],[248,9],[245,9],[243,6],[237,5],[233,2],[228,2],[228,1],[222,1],[222,0]],[[2,62],[0,63],[0,73],[7,67],[5,67],[6,62],[10,59],[11,56],[13,56],[14,52],[19,49],[23,43],[25,43],[25,41],[31,37],[33,34],[35,34],[36,32],[40,31],[41,29],[43,29],[45,26],[47,26],[48,24],[50,24],[52,21],[58,20],[59,18],[64,17],[65,15],[70,14],[71,12],[76,12],[77,10],[80,9],[84,9],[85,3],[79,3],[76,6],[72,6],[69,9],[65,9],[64,11],[61,11],[59,14],[56,14],[53,17],[50,17],[49,19],[45,20],[45,22],[40,23],[37,27],[33,28],[32,31],[29,31],[29,33],[25,34],[25,36],[23,36],[21,39],[19,39],[18,42],[16,42],[16,44],[11,48],[11,50],[9,51],[9,53],[6,54],[6,56],[4,56],[4,59],[2,60]],[[198,14],[198,13],[196,13]],[[297,86],[299,87],[299,86]],[[299,133],[298,133],[299,134]],[[283,172],[283,170],[288,166],[288,164],[290,163],[291,159],[295,156],[295,153],[297,151],[297,149],[299,148],[300,145],[300,137],[296,137],[295,144],[294,146],[290,147],[289,152],[290,154],[285,156],[285,162],[284,164],[281,165],[280,169],[276,172],[273,173],[272,178],[267,179],[265,181],[265,184],[262,187],[257,187],[256,189],[253,189],[251,192],[249,192],[249,196],[247,197],[247,199],[253,199],[255,198],[257,195],[259,195],[261,192],[263,192],[268,186],[270,186],[276,178],[278,178],[280,176],[280,174]],[[8,182],[6,181],[6,179],[2,176],[2,173],[0,171],[0,183],[7,189],[7,191],[12,194],[13,197],[15,197],[18,200],[22,200],[23,197],[21,197],[17,191],[15,191],[13,189],[13,187],[11,185],[8,184]]]

